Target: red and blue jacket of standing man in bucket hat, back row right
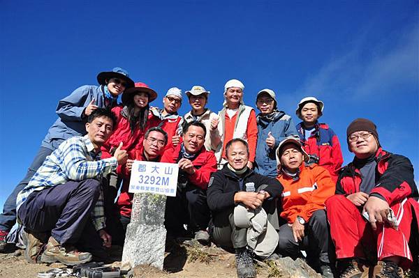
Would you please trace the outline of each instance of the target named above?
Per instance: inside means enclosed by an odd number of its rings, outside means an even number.
[[[336,182],[337,171],[344,163],[344,159],[335,132],[325,123],[316,123],[314,132],[309,138],[304,138],[302,123],[299,123],[296,128],[304,150],[309,155],[315,155],[318,158],[318,165],[325,167]]]

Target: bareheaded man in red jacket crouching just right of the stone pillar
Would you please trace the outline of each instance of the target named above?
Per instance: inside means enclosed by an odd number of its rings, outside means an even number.
[[[203,123],[192,121],[185,125],[183,142],[163,154],[161,162],[177,163],[177,193],[166,201],[165,226],[168,237],[177,238],[185,234],[183,225],[196,240],[207,244],[210,209],[207,205],[207,187],[210,175],[216,171],[214,153],[205,149],[207,130]]]

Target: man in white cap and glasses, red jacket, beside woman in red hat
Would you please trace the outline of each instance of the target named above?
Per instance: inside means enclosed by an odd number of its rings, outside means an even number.
[[[177,114],[182,105],[182,91],[177,87],[168,90],[163,98],[163,109],[152,109],[152,113],[161,118],[161,127],[168,134],[166,150],[177,146],[182,134],[183,118]]]

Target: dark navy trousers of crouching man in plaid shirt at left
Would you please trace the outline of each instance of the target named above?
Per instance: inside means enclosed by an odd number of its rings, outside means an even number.
[[[61,245],[75,245],[80,239],[100,241],[98,233],[93,233],[91,222],[91,212],[100,193],[98,180],[68,181],[32,192],[20,206],[18,217],[29,232],[50,232]],[[86,235],[88,238],[82,238]]]

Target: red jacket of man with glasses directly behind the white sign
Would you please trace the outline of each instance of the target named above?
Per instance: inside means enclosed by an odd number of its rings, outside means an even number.
[[[143,155],[143,148],[135,150],[135,160],[148,161]],[[161,157],[157,157],[154,162],[160,162]],[[131,217],[131,210],[133,208],[133,193],[129,193],[129,181],[131,179],[131,172],[126,169],[125,165],[120,167],[119,176],[123,178],[121,194],[117,199],[117,207],[119,214],[125,217]]]

